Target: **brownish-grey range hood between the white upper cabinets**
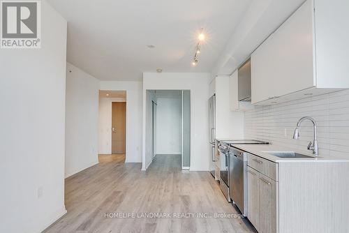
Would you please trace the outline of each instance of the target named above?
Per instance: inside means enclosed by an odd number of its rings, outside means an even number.
[[[251,60],[240,66],[237,75],[239,101],[251,101]]]

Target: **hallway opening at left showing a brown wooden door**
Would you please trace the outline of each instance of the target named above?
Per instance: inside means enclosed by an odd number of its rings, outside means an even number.
[[[98,161],[125,163],[126,91],[99,91]]]

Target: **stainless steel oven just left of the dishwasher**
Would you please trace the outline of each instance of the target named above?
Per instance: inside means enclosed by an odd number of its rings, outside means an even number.
[[[219,179],[219,184],[221,186],[221,190],[223,194],[225,195],[225,198],[227,198],[228,202],[231,202],[230,195],[229,195],[229,149],[228,144],[225,144],[225,142],[221,141],[218,144],[218,152],[219,152],[219,158],[221,160],[221,169],[219,171],[219,174],[221,178]]]

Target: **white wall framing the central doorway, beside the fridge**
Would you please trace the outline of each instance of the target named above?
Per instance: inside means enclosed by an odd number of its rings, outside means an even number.
[[[191,90],[191,170],[209,170],[208,103],[209,73],[143,73],[143,112],[146,112],[146,90]],[[142,170],[151,154],[145,148],[143,115]]]

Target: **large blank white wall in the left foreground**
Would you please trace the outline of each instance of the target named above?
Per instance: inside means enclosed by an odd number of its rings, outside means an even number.
[[[41,7],[41,48],[0,51],[0,232],[41,232],[66,213],[66,20]]]

